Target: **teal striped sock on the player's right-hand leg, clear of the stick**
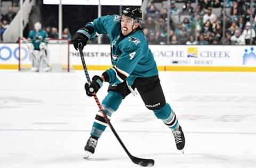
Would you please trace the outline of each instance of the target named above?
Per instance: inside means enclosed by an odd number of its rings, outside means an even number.
[[[154,110],[154,113],[157,118],[161,119],[172,131],[176,131],[179,128],[178,119],[168,103],[161,109]]]

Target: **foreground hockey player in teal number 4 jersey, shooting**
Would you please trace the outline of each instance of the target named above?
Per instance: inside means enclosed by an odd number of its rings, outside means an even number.
[[[94,75],[91,83],[85,83],[86,94],[92,96],[101,88],[103,82],[109,83],[108,94],[102,101],[102,107],[110,119],[122,100],[130,93],[134,93],[133,89],[137,88],[145,106],[172,130],[177,148],[183,150],[185,137],[177,116],[165,102],[156,62],[140,29],[141,20],[140,9],[128,7],[122,11],[121,16],[102,16],[87,23],[75,33],[73,44],[76,49],[79,43],[85,46],[97,33],[108,34],[111,43],[113,68],[103,72],[101,77]],[[106,127],[107,123],[99,111],[92,125],[91,137],[84,148],[84,158],[94,153],[98,139]]]

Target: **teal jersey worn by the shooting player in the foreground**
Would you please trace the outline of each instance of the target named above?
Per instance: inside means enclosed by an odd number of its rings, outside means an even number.
[[[97,34],[109,36],[113,65],[113,68],[107,70],[110,85],[126,80],[131,86],[136,77],[152,77],[158,74],[156,62],[142,30],[123,36],[119,15],[102,16],[86,25],[94,28],[91,38]]]

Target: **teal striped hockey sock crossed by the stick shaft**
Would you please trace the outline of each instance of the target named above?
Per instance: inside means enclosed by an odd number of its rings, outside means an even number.
[[[119,105],[122,103],[122,95],[116,91],[109,91],[108,95],[102,101],[103,111],[110,120],[111,115],[117,110]],[[100,138],[102,133],[107,127],[107,122],[105,121],[101,111],[95,116],[95,120],[91,130],[91,136]]]

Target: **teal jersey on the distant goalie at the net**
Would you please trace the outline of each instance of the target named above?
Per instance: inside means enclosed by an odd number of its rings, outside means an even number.
[[[48,35],[46,31],[44,30],[30,30],[28,38],[30,39],[30,42],[34,45],[34,48],[39,50],[39,46],[42,42],[45,42],[45,38],[47,38]]]

